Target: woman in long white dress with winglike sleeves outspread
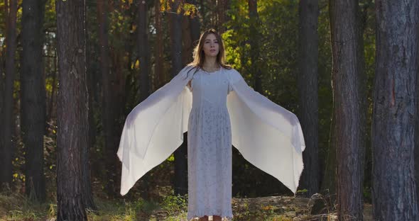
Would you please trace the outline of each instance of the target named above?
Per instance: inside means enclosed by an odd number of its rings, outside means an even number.
[[[188,220],[232,219],[232,145],[296,192],[305,149],[298,118],[224,64],[222,38],[213,29],[202,33],[194,61],[126,118],[118,150],[121,195],[169,157],[186,131]]]

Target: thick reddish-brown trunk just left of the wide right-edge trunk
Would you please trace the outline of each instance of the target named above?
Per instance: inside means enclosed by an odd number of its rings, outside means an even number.
[[[337,139],[337,210],[339,220],[362,220],[364,118],[359,84],[364,67],[359,44],[358,1],[330,1],[333,53],[334,130]]]

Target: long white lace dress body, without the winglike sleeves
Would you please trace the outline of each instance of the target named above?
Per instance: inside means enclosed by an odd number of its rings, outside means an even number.
[[[189,74],[193,74],[192,70]],[[232,219],[232,129],[225,72],[193,75],[187,133],[187,220],[204,215]]]

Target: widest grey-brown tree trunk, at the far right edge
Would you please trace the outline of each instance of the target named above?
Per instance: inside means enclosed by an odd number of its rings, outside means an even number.
[[[419,220],[413,154],[419,1],[375,3],[374,219]]]

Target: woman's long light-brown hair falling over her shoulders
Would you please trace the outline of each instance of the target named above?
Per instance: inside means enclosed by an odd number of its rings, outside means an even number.
[[[210,28],[208,30],[205,30],[205,32],[203,32],[201,34],[200,37],[200,41],[198,42],[198,45],[194,48],[193,51],[193,61],[190,62],[189,64],[187,64],[188,67],[192,67],[187,74],[189,74],[189,72],[192,69],[195,69],[194,74],[199,70],[202,69],[202,65],[204,64],[204,60],[205,60],[205,53],[203,47],[204,47],[204,42],[205,42],[205,38],[207,38],[207,36],[209,34],[214,34],[215,38],[217,38],[217,42],[219,45],[219,52],[217,55],[217,63],[221,66],[224,67],[225,69],[232,69],[232,67],[230,67],[228,64],[225,64],[225,50],[224,50],[224,43],[222,42],[222,38],[221,36],[217,33],[216,30],[214,30],[213,28]]]

